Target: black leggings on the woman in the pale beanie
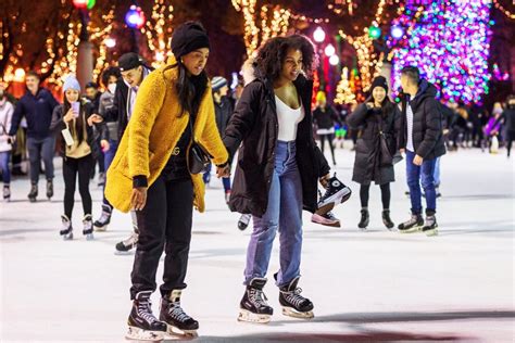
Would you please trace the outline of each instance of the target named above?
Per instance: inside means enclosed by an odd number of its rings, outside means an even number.
[[[75,185],[78,174],[78,192],[83,199],[84,215],[91,214],[91,194],[89,193],[89,176],[93,168],[91,154],[81,158],[66,157],[63,160],[64,177],[64,214],[71,219],[75,203]]]

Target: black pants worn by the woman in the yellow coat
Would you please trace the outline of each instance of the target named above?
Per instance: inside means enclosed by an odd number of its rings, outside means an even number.
[[[163,176],[149,188],[147,204],[136,213],[139,239],[131,274],[130,298],[141,291],[154,291],[155,272],[165,251],[161,294],[186,288],[193,215],[191,179],[166,181]]]

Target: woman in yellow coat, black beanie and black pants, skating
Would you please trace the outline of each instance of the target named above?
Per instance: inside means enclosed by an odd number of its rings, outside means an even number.
[[[204,211],[202,175],[187,164],[192,141],[203,145],[228,174],[228,154],[216,128],[204,67],[209,38],[199,23],[175,29],[174,55],[141,84],[135,110],[108,172],[105,195],[120,211],[137,213],[139,241],[131,272],[129,339],[162,339],[164,332],[191,333],[197,320],[180,307],[191,240],[193,205]],[[159,320],[150,295],[165,251]],[[174,329],[178,329],[175,330]]]

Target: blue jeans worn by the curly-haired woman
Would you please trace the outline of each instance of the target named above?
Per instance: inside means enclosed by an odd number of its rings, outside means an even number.
[[[302,182],[294,142],[277,142],[268,205],[262,217],[253,217],[253,223],[254,230],[247,250],[244,284],[253,278],[266,276],[277,230],[280,242],[277,285],[288,284],[300,275],[302,250]]]

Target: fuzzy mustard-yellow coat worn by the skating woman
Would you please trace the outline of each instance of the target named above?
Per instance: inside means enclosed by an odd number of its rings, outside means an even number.
[[[172,56],[168,65],[175,64]],[[180,104],[175,88],[177,68],[165,67],[150,73],[142,81],[136,98],[129,124],[109,167],[105,198],[117,209],[130,209],[133,177],[145,175],[149,187],[161,175],[183,132],[188,128],[189,113],[179,116]],[[208,87],[196,116],[194,140],[214,156],[214,164],[228,160],[215,122],[211,86]],[[193,205],[204,212],[204,182],[202,175],[191,175]]]

